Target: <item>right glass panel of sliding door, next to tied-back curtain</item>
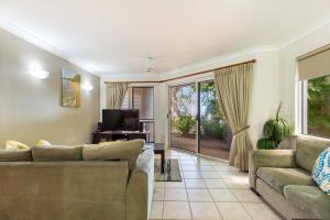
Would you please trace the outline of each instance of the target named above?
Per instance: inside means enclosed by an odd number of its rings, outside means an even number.
[[[199,82],[199,153],[229,158],[232,133],[219,111],[215,80]]]

